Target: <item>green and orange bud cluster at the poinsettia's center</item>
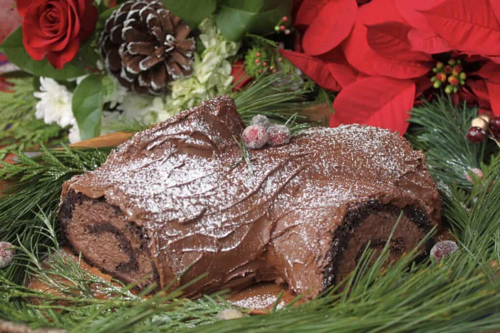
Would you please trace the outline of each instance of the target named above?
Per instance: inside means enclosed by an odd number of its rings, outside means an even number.
[[[438,89],[443,85],[442,83],[448,82],[449,84],[444,86],[446,93],[458,92],[459,86],[465,84],[467,77],[459,59],[449,59],[446,65],[438,61],[432,71],[435,73],[430,78],[432,86]]]

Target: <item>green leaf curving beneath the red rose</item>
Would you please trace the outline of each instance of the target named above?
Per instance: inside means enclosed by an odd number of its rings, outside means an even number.
[[[62,69],[54,68],[47,59],[36,61],[31,59],[22,44],[22,29],[15,29],[0,45],[0,51],[22,70],[35,76],[47,76],[56,80],[66,80],[86,74],[85,67],[77,59],[64,65]]]

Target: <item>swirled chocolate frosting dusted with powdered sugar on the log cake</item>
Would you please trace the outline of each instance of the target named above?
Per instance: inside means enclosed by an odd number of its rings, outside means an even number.
[[[376,199],[439,223],[425,156],[386,129],[311,128],[286,145],[249,150],[233,100],[221,95],[136,133],[94,171],[63,186],[103,199],[147,232],[162,287],[207,273],[196,295],[250,281],[325,286],[333,236],[349,209]]]

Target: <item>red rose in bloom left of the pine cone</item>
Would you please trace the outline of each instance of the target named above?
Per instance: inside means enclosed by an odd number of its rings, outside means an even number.
[[[92,0],[17,0],[22,42],[29,56],[45,56],[58,69],[71,61],[80,43],[95,28],[97,8]]]

